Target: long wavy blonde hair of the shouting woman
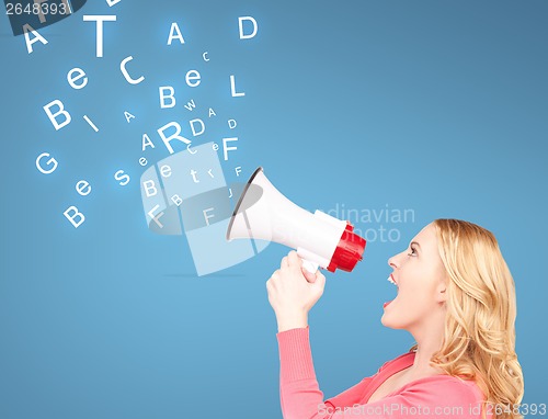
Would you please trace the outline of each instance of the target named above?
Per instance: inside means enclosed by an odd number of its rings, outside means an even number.
[[[515,285],[496,239],[468,222],[436,219],[433,225],[448,282],[443,343],[430,363],[476,382],[486,397],[483,418],[486,410],[496,419],[522,418]]]

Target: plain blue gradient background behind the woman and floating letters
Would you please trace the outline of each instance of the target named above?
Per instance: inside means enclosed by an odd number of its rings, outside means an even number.
[[[0,417],[281,417],[265,281],[287,249],[196,278],[185,238],[155,236],[142,214],[139,157],[167,157],[156,131],[179,121],[189,134],[209,106],[217,118],[194,143],[239,137],[227,182],[263,166],[308,210],[414,211],[408,223],[358,223],[401,239],[370,240],[354,272],[328,274],[309,318],[326,398],[413,343],[379,321],[395,295],[387,259],[434,218],[456,217],[500,241],[517,288],[524,403],[548,403],[546,1],[90,3],[42,30],[49,43],[31,55],[0,19]],[[117,15],[103,58],[82,14]],[[259,23],[252,39],[238,36],[244,15]],[[184,45],[165,45],[171,22]],[[141,84],[119,72],[129,55]],[[73,67],[88,73],[82,90],[67,83]],[[190,69],[202,73],[195,89]],[[246,97],[231,98],[230,75]],[[175,109],[160,110],[160,86],[175,88]],[[73,120],[59,132],[42,109],[54,99]],[[141,151],[144,133],[153,150]],[[59,161],[53,174],[36,170],[43,151]],[[69,205],[85,214],[78,229]]]

